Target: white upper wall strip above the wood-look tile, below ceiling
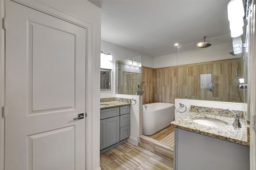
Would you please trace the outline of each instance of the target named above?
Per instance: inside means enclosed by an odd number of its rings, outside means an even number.
[[[228,52],[232,51],[231,43],[222,43],[212,45],[203,49],[192,49],[188,51],[180,51],[169,55],[162,55],[154,57],[154,68],[161,68],[167,66],[176,66],[183,64],[202,63],[207,61],[218,61],[225,59],[234,59],[237,56],[232,56]],[[177,61],[178,59],[178,61]]]

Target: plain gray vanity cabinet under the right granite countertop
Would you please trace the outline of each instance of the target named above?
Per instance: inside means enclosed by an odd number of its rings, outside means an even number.
[[[250,148],[174,129],[174,170],[250,170]]]

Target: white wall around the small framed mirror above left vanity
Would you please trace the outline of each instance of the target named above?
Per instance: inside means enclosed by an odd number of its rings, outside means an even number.
[[[121,47],[119,45],[109,43],[107,41],[101,40],[101,51],[103,53],[110,53],[113,56],[113,60],[100,62],[100,68],[112,69],[112,90],[111,90],[111,92],[100,92],[100,98],[115,97],[115,94],[116,94],[115,93],[116,92],[115,60],[122,60],[122,59],[127,59],[129,57],[135,57],[138,55],[142,55],[142,66],[147,66],[147,67],[151,67],[151,68],[154,67],[154,57]],[[98,71],[98,72],[100,72],[100,71]]]

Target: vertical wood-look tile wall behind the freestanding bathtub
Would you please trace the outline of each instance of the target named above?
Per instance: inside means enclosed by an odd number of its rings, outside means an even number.
[[[231,102],[237,90],[235,68],[238,68],[238,76],[241,76],[243,73],[241,65],[240,59],[228,59],[156,69],[142,67],[142,81],[151,80],[147,87],[151,90],[146,91],[144,88],[146,92],[144,102],[145,104],[152,101],[174,103],[175,98],[184,98],[184,96],[195,100]],[[152,72],[154,75],[151,74]],[[211,74],[213,91],[209,88],[200,88],[201,74]],[[154,78],[154,90],[152,90],[152,78]],[[244,101],[243,92],[244,90],[237,92],[234,102]]]

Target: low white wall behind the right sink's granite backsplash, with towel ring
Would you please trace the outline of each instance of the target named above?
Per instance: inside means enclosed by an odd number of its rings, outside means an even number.
[[[184,111],[185,108],[180,107],[180,103],[187,107],[184,113],[179,113],[178,111]],[[220,109],[234,109],[240,111],[247,111],[247,104],[244,103],[232,103],[232,102],[217,102],[217,101],[206,101],[206,100],[190,100],[190,99],[175,99],[175,120],[188,114],[190,112],[190,106],[203,106],[203,107],[213,107]]]

